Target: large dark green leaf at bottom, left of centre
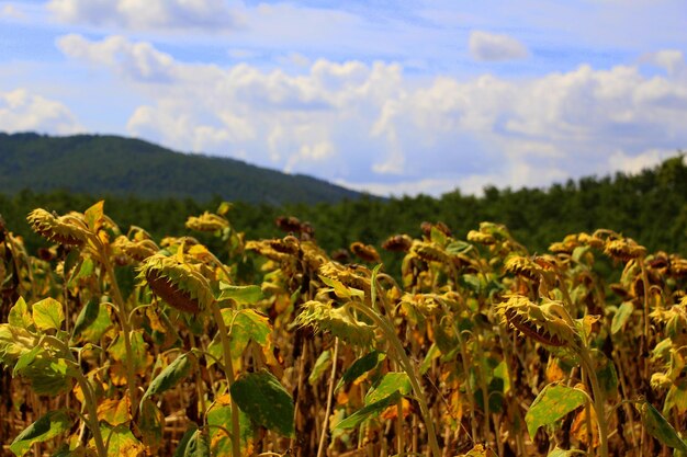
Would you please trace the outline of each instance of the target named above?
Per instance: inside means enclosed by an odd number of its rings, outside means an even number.
[[[262,369],[245,374],[229,390],[250,419],[271,431],[293,436],[293,399],[271,373]]]

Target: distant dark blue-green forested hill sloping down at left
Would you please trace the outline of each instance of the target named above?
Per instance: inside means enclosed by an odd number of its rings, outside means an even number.
[[[248,203],[334,203],[359,193],[305,175],[184,155],[132,138],[0,134],[0,190],[65,190],[140,198],[213,196]]]

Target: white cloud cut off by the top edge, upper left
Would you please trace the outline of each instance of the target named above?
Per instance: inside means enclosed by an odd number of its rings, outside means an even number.
[[[241,19],[226,0],[50,0],[58,20],[123,30],[224,31]]]

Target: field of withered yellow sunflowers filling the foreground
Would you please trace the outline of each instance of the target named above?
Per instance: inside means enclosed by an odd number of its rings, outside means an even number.
[[[103,202],[0,232],[0,443],[50,456],[685,455],[687,260],[599,229],[533,254],[442,222],[378,248],[222,251],[119,227]],[[354,263],[353,263],[354,262]]]

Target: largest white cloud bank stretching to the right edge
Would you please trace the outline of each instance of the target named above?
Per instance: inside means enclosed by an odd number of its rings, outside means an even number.
[[[122,37],[59,43],[149,98],[128,119],[132,135],[370,192],[542,186],[687,145],[687,82],[635,66],[418,82],[388,62],[320,59],[286,73],[188,64]]]

